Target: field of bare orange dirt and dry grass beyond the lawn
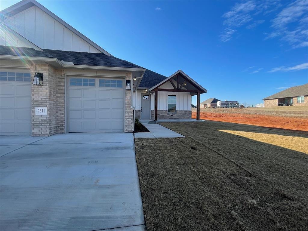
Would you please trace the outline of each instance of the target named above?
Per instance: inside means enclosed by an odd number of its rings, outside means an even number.
[[[192,111],[196,118],[196,111]],[[308,131],[308,107],[201,108],[200,119]]]

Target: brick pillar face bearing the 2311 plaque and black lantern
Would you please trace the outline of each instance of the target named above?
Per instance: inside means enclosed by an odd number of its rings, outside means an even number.
[[[56,133],[56,77],[48,64],[31,64],[31,77],[43,73],[43,86],[31,84],[32,136],[51,136]],[[31,78],[31,80],[32,80]],[[35,115],[35,107],[47,107],[47,115]]]

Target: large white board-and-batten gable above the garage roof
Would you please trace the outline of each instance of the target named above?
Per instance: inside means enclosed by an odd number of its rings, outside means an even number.
[[[36,1],[18,2],[1,14],[3,23],[42,49],[110,55]]]

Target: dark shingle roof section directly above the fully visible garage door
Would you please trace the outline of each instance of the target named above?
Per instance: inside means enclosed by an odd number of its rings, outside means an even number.
[[[115,58],[111,55],[105,55],[103,53],[88,53],[77,51],[57,51],[47,50],[55,58],[60,61],[72,62],[75,65],[88,65],[88,66],[103,66],[103,67],[128,67],[128,68],[143,68],[136,64],[130,63],[126,60]]]

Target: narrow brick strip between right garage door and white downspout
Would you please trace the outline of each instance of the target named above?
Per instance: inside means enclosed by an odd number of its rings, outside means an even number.
[[[132,73],[125,74],[125,80],[130,79],[132,80]],[[124,82],[124,87],[125,87]],[[126,91],[125,90],[125,127],[124,132],[133,132],[133,108],[132,108],[132,90]]]

